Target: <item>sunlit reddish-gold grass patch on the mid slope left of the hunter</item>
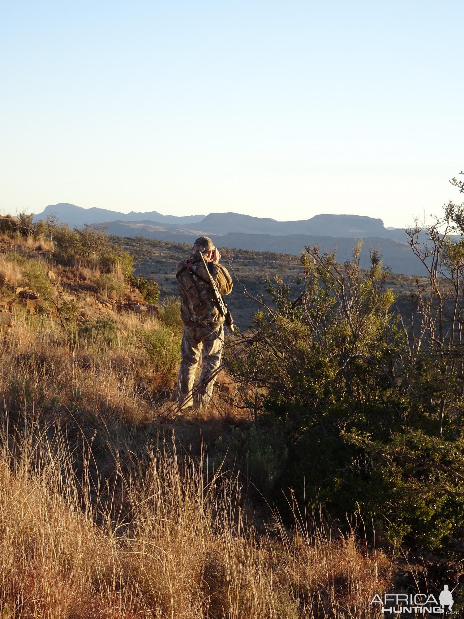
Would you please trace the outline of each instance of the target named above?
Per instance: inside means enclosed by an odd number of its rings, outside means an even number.
[[[56,400],[56,409],[78,404],[106,421],[140,425],[153,415],[141,381],[148,374],[146,365],[121,329],[108,344],[99,331],[85,337],[67,333],[49,316],[17,307],[2,351],[0,391],[7,394],[12,384],[27,384],[35,412]]]

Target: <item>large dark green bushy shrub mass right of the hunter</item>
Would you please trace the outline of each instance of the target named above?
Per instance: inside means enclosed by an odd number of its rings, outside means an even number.
[[[341,527],[357,513],[392,547],[452,550],[464,527],[462,351],[434,352],[429,341],[411,355],[389,272],[375,252],[361,270],[359,251],[340,266],[307,248],[301,305],[280,278],[268,282],[275,319],[256,315],[260,338],[231,367],[267,387],[259,423],[285,446],[274,496],[282,509],[290,499],[317,503]],[[246,436],[230,440],[241,459],[257,449]],[[257,453],[266,470],[269,454]]]

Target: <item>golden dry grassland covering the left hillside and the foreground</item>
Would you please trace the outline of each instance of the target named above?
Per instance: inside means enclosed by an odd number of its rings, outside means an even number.
[[[392,558],[363,523],[342,533],[291,493],[283,521],[218,457],[249,423],[237,399],[219,387],[210,410],[147,433],[176,376],[176,300],[150,313],[149,282],[110,249],[67,260],[45,236],[0,245],[2,616],[375,615]]]

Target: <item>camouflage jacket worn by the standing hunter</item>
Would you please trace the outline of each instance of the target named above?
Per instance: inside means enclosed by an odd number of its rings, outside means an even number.
[[[187,268],[189,262],[192,266]],[[221,264],[208,262],[208,271],[213,276],[221,295],[228,295],[232,291],[232,280],[229,272]],[[181,318],[184,322],[224,322],[217,305],[213,301],[212,286],[195,277],[191,271],[197,272],[204,279],[208,274],[197,256],[191,256],[188,260],[179,262],[176,277],[181,296]]]

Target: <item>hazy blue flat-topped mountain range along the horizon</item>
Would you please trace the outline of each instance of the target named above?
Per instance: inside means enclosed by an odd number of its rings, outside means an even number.
[[[324,251],[333,251],[344,261],[351,255],[354,239],[363,238],[361,266],[369,264],[369,249],[379,249],[384,263],[395,273],[419,275],[424,267],[407,244],[402,228],[385,228],[379,218],[361,215],[320,214],[310,219],[279,222],[268,217],[251,217],[238,213],[210,213],[176,217],[157,211],[120,213],[106,209],[82,209],[74,204],[49,205],[34,219],[45,219],[55,214],[71,227],[84,223],[106,224],[107,231],[117,236],[144,236],[177,243],[193,243],[197,236],[208,235],[221,247],[256,249],[296,254],[305,245],[321,245]]]

